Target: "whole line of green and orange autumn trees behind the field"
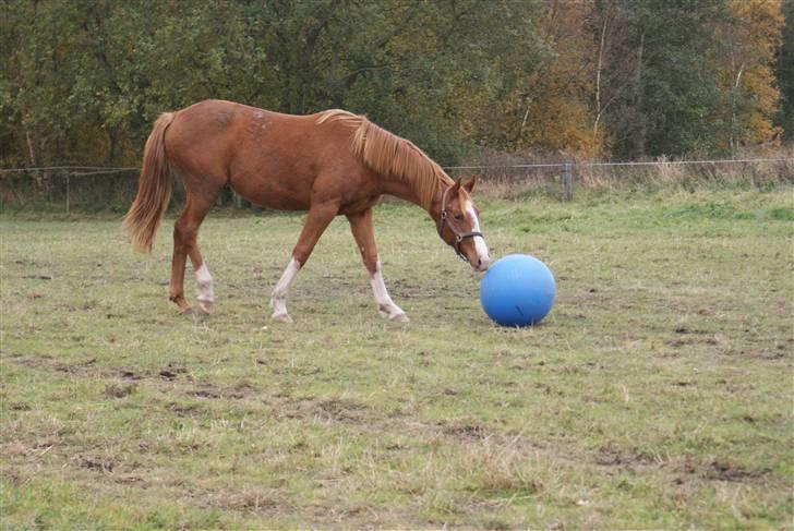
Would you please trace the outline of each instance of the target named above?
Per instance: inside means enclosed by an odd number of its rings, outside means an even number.
[[[0,164],[136,165],[206,98],[478,149],[733,155],[794,133],[794,2],[7,0]]]

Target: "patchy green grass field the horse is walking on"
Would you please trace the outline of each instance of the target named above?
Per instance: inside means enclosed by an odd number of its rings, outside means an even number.
[[[193,318],[169,220],[144,257],[118,219],[4,214],[0,527],[792,529],[792,189],[480,207],[495,257],[554,270],[542,325],[489,323],[413,206],[376,212],[407,325],[344,219],[290,326],[301,216],[210,215]]]

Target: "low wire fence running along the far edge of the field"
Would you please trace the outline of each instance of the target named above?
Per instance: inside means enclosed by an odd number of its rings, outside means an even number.
[[[794,182],[794,157],[718,160],[655,160],[629,162],[554,161],[447,166],[452,176],[478,174],[504,186],[553,184],[563,201],[572,201],[576,185],[619,186],[630,183],[745,181],[756,185]],[[0,169],[0,205],[48,205],[70,212],[124,212],[137,189],[139,168],[99,166],[50,166]],[[177,204],[184,200],[181,185],[173,186]],[[242,200],[225,190],[219,204],[242,206]]]

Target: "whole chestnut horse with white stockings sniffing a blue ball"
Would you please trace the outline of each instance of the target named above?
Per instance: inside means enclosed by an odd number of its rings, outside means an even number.
[[[198,227],[224,185],[255,205],[309,210],[292,258],[278,280],[272,318],[291,322],[287,293],[298,270],[335,216],[345,215],[370,273],[378,311],[407,321],[386,290],[375,249],[372,207],[383,194],[424,208],[438,236],[476,270],[488,269],[488,246],[471,201],[474,179],[453,181],[411,142],[363,116],[327,110],[311,116],[272,112],[222,100],[207,100],[155,122],[146,141],[135,201],[124,218],[132,245],[151,252],[171,194],[170,171],[183,182],[184,209],[173,227],[169,299],[191,312],[184,298],[187,257],[193,264],[200,307],[209,313],[213,277],[202,258]]]

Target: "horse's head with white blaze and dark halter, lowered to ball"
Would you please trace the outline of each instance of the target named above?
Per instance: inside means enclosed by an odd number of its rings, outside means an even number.
[[[455,184],[442,192],[441,207],[436,219],[438,236],[471,268],[478,271],[488,269],[491,257],[488,244],[480,230],[480,210],[471,200],[476,179],[465,184],[458,179]]]

